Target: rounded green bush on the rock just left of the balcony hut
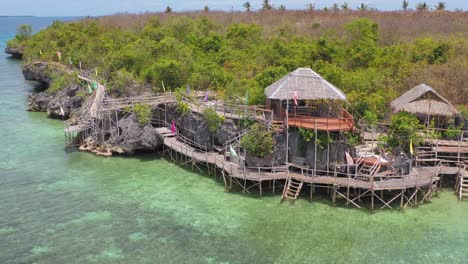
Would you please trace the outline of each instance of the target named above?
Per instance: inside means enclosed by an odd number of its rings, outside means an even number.
[[[256,123],[242,136],[240,145],[247,153],[258,158],[264,158],[273,153],[275,142],[265,126]]]

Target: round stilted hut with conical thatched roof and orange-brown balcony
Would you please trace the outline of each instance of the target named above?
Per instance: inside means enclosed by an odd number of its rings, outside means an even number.
[[[289,73],[268,86],[265,95],[275,119],[288,120],[289,126],[324,131],[354,128],[353,117],[342,107],[345,94],[310,68]]]

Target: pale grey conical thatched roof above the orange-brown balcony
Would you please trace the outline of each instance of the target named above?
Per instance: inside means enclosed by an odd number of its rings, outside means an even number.
[[[310,68],[298,68],[265,89],[268,99],[332,99],[346,101],[345,94]]]

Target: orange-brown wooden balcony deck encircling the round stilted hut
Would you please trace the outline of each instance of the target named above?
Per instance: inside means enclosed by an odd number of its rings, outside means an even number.
[[[290,127],[302,127],[318,131],[352,131],[354,125],[352,121],[342,118],[323,118],[323,117],[306,117],[306,116],[290,116],[288,118]]]

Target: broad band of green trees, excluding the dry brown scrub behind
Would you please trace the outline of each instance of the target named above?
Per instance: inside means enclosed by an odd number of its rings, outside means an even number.
[[[98,67],[116,96],[140,92],[132,90],[139,85],[159,92],[163,83],[165,90],[189,84],[218,91],[225,99],[242,98],[248,91],[250,104],[263,104],[266,86],[298,67],[311,67],[348,95],[358,116],[372,111],[383,117],[390,100],[421,82],[438,87],[447,80],[452,85],[444,96],[466,103],[468,76],[455,75],[456,68],[468,65],[466,56],[459,56],[468,54],[466,39],[383,44],[381,28],[368,18],[354,19],[344,30],[317,38],[283,23],[266,34],[257,23],[223,26],[205,16],[170,15],[164,21],[153,17],[135,31],[95,19],[57,21],[32,36],[22,27],[18,35],[23,37],[17,39],[26,60],[56,61],[60,51],[85,69]],[[447,66],[452,63],[458,66]]]

